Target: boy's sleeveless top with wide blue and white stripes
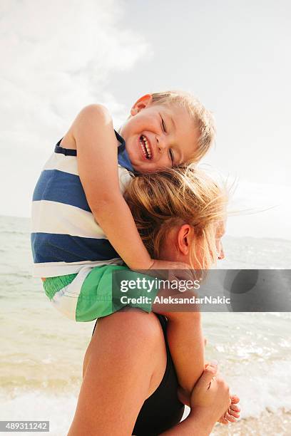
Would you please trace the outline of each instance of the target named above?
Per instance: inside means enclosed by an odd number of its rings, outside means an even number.
[[[123,137],[116,132],[121,192],[134,173]],[[36,184],[31,214],[31,248],[36,277],[78,273],[83,266],[122,264],[96,223],[78,175],[77,152],[60,146]]]

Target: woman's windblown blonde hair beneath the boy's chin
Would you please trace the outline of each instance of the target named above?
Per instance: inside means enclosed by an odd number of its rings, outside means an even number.
[[[193,164],[133,177],[126,190],[126,201],[150,256],[160,256],[170,229],[190,224],[195,232],[190,261],[198,269],[209,269],[216,262],[215,231],[225,219],[227,197],[225,188]],[[202,261],[196,244],[202,249]]]

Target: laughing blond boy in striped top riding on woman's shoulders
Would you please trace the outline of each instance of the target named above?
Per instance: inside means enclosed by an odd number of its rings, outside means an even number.
[[[150,258],[123,191],[134,172],[200,160],[214,136],[212,116],[187,93],[139,98],[119,134],[103,106],[81,110],[34,191],[34,275],[53,306],[76,321],[91,321],[113,312],[111,274],[123,262],[130,269],[189,268]],[[183,368],[176,369],[179,378]],[[202,371],[182,386],[186,392]]]

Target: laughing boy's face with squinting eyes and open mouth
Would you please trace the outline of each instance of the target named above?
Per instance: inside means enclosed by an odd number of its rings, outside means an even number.
[[[151,102],[151,95],[140,98],[120,130],[137,172],[180,165],[190,160],[198,147],[199,131],[186,108]]]

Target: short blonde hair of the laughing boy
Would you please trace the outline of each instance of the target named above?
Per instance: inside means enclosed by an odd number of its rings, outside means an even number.
[[[190,162],[198,162],[208,152],[210,145],[215,140],[215,120],[212,113],[192,94],[184,91],[168,90],[162,93],[152,93],[151,95],[153,97],[152,104],[176,104],[188,110],[200,132],[198,147],[193,152]]]

